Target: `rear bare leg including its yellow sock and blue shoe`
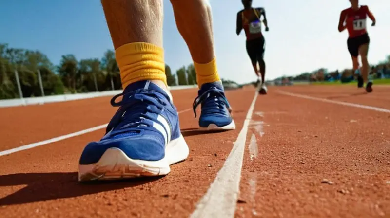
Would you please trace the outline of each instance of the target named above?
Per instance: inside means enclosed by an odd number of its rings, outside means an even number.
[[[198,97],[195,98],[193,104],[194,111],[199,104],[205,102],[208,103],[206,105],[210,106],[201,107],[199,126],[208,129],[214,127],[234,129],[235,124],[229,114],[232,113],[233,109],[225,97],[216,64],[209,0],[171,0],[171,3],[177,29],[186,41],[194,61],[196,81],[199,87]],[[203,94],[205,93],[210,93],[207,95],[209,97],[204,98]],[[226,106],[226,108],[220,106]],[[213,113],[208,111],[215,108],[220,109],[220,114],[214,113],[212,115]]]

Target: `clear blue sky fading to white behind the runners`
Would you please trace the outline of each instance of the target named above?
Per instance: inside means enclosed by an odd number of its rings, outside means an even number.
[[[169,0],[163,1],[165,61],[176,71],[192,60],[176,29],[172,6]],[[241,1],[210,1],[220,76],[239,83],[253,81],[244,32],[235,35]],[[368,27],[369,61],[377,63],[390,55],[390,1],[360,0],[360,4],[368,4],[377,19],[375,27]],[[269,32],[264,32],[266,79],[320,67],[329,70],[351,67],[347,32],[337,31],[341,10],[350,6],[348,0],[254,0],[254,6],[266,9],[270,27]],[[107,49],[113,48],[98,0],[3,0],[0,31],[0,43],[38,49],[54,64],[64,54],[74,54],[78,59],[101,58]]]

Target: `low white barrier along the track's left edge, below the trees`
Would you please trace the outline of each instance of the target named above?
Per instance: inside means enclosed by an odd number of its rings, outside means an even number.
[[[182,89],[191,89],[196,87],[197,85],[172,86],[169,87],[169,89],[182,90]],[[114,96],[121,92],[122,90],[114,90],[114,91],[98,91],[98,92],[77,93],[77,94],[51,95],[51,96],[44,96],[44,97],[7,99],[7,100],[0,100],[0,108],[37,105],[37,104],[61,102],[61,101],[72,101],[72,100],[95,98],[95,97],[102,97],[102,96]]]

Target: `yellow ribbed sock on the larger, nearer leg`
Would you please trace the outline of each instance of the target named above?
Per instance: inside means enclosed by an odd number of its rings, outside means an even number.
[[[115,50],[122,87],[142,80],[161,80],[167,84],[164,49],[146,42],[134,42]]]

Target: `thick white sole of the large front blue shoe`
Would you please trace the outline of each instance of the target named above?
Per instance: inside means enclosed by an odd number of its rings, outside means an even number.
[[[96,164],[79,165],[78,181],[118,180],[167,175],[170,165],[187,159],[189,148],[180,135],[165,147],[165,157],[159,161],[134,160],[119,148],[109,148]]]

